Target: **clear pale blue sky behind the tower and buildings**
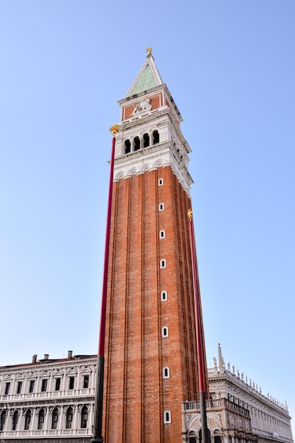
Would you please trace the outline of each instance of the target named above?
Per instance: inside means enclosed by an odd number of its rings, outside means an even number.
[[[293,0],[0,2],[0,364],[96,353],[110,125],[153,47],[192,148],[207,359],[295,416]]]

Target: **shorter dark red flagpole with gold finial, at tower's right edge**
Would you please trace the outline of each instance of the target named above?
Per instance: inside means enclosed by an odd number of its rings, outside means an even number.
[[[192,258],[192,282],[194,287],[195,298],[195,317],[196,317],[196,333],[197,333],[197,367],[199,372],[199,410],[201,413],[201,427],[202,427],[202,443],[208,442],[208,428],[207,428],[207,412],[206,412],[206,390],[204,384],[204,361],[203,361],[203,346],[201,335],[201,313],[199,298],[199,287],[197,284],[197,266],[195,260],[195,247],[194,247],[194,229],[192,224],[192,209],[189,209],[187,216],[190,220],[190,253]]]

